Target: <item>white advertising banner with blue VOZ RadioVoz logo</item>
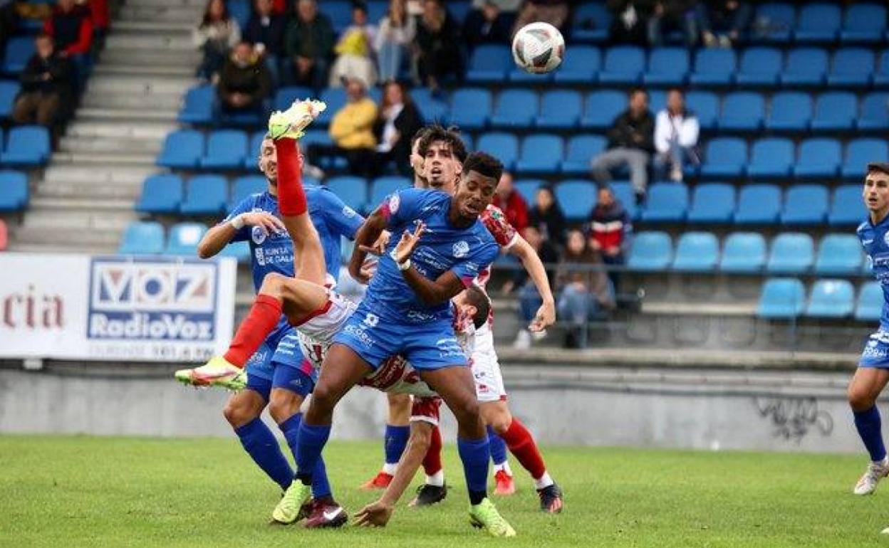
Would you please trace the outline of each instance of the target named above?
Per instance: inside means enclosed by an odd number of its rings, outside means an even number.
[[[0,253],[0,358],[204,361],[232,334],[234,258]]]

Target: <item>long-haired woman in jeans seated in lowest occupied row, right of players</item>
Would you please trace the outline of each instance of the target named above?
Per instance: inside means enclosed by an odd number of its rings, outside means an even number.
[[[587,345],[589,321],[602,311],[612,310],[615,301],[602,257],[589,248],[580,230],[568,233],[556,269],[556,288],[560,293],[558,318],[569,325],[565,347],[583,348]]]

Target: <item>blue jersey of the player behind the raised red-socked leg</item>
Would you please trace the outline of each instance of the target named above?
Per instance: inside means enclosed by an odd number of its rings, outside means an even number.
[[[364,223],[364,218],[342,203],[340,197],[326,187],[306,187],[305,190],[308,215],[321,238],[327,273],[335,280],[340,271],[340,236],[354,240],[358,227]],[[279,216],[276,196],[268,194],[268,191],[250,195],[237,204],[228,214],[226,221],[241,213],[252,211],[266,211]],[[285,276],[293,275],[293,242],[285,230],[265,234],[260,226],[244,226],[236,232],[231,241],[250,242],[253,286],[256,290],[260,289],[266,274],[275,272]]]

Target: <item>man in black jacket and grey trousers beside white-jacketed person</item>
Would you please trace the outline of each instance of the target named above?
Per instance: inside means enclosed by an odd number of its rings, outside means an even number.
[[[593,177],[605,185],[611,180],[611,170],[627,167],[637,203],[645,202],[648,161],[654,152],[654,118],[645,90],[629,92],[629,107],[614,119],[607,137],[608,149],[593,160]]]

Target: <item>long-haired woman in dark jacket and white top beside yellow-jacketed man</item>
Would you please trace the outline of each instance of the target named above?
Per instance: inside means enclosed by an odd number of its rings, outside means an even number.
[[[411,138],[422,125],[420,112],[404,87],[397,82],[387,83],[373,123],[373,135],[377,139],[376,175],[395,160],[399,173],[412,176]]]

